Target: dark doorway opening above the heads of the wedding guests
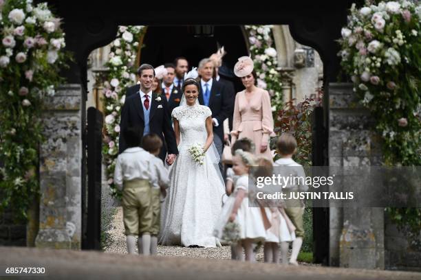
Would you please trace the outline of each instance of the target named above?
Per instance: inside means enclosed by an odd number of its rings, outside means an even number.
[[[148,26],[144,35],[144,47],[140,51],[140,63],[154,67],[173,62],[177,56],[187,58],[189,67],[197,67],[202,58],[208,58],[224,46],[224,67],[229,70],[226,78],[232,80],[236,91],[244,89],[234,76],[233,67],[240,56],[248,56],[248,43],[242,25],[213,26],[213,36],[197,36],[195,26]],[[196,35],[196,36],[195,36]]]

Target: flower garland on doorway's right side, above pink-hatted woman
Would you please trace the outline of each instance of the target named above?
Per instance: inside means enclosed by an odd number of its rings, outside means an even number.
[[[255,61],[257,86],[266,89],[271,97],[272,112],[283,107],[281,76],[277,71],[277,50],[274,49],[272,25],[246,25],[250,54]]]

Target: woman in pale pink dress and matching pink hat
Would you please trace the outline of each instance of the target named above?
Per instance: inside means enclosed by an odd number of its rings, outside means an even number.
[[[234,73],[246,89],[235,96],[232,142],[250,138],[255,143],[255,155],[272,160],[269,138],[274,132],[269,93],[256,86],[257,75],[251,58],[242,56],[238,60]]]

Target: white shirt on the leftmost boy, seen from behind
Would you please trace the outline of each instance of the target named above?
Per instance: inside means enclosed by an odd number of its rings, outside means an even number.
[[[114,170],[114,183],[122,190],[124,181],[149,180],[151,181],[153,154],[140,147],[127,148],[118,155],[116,169]]]

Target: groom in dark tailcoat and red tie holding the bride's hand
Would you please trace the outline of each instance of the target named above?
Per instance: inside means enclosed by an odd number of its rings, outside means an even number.
[[[165,160],[166,151],[168,150],[168,158],[166,162],[172,164],[175,155],[178,154],[175,134],[171,126],[169,117],[168,103],[161,95],[152,93],[151,87],[155,71],[151,65],[140,65],[138,69],[138,78],[140,81],[139,91],[131,93],[126,97],[125,104],[122,106],[120,129],[121,131],[129,126],[140,126],[142,135],[155,133],[161,139],[164,145],[160,152],[160,159]],[[130,91],[136,89],[131,86]],[[128,91],[129,91],[128,89]],[[125,137],[121,133],[119,141],[119,152],[123,152],[127,148]]]

